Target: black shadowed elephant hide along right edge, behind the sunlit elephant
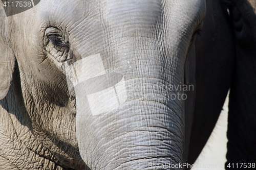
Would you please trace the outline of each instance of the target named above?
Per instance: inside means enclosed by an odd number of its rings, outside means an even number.
[[[256,160],[256,1],[225,2],[236,38],[236,71],[230,88],[228,112],[228,169],[231,163],[248,163],[249,167],[249,163]]]

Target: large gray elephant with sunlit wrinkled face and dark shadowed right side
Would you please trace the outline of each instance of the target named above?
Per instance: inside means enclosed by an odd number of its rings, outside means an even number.
[[[221,1],[41,0],[10,10],[1,4],[1,169],[195,161],[233,75]]]

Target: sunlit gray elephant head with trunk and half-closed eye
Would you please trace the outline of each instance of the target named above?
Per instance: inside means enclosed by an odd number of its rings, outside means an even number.
[[[181,169],[205,1],[44,0],[8,17],[0,10],[1,99],[13,82],[20,113],[56,164]]]

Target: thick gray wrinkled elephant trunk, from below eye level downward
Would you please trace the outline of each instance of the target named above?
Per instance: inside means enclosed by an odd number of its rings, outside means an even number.
[[[119,61],[122,64],[118,62],[111,74],[104,72],[108,76],[75,86],[76,133],[83,160],[91,169],[179,169],[184,143],[180,80],[168,76],[170,70],[161,62]],[[103,90],[87,93],[101,85]]]

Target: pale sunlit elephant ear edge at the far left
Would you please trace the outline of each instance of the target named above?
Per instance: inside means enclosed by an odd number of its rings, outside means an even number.
[[[0,100],[7,95],[15,65],[15,56],[8,43],[6,31],[6,14],[2,3],[0,4]]]

